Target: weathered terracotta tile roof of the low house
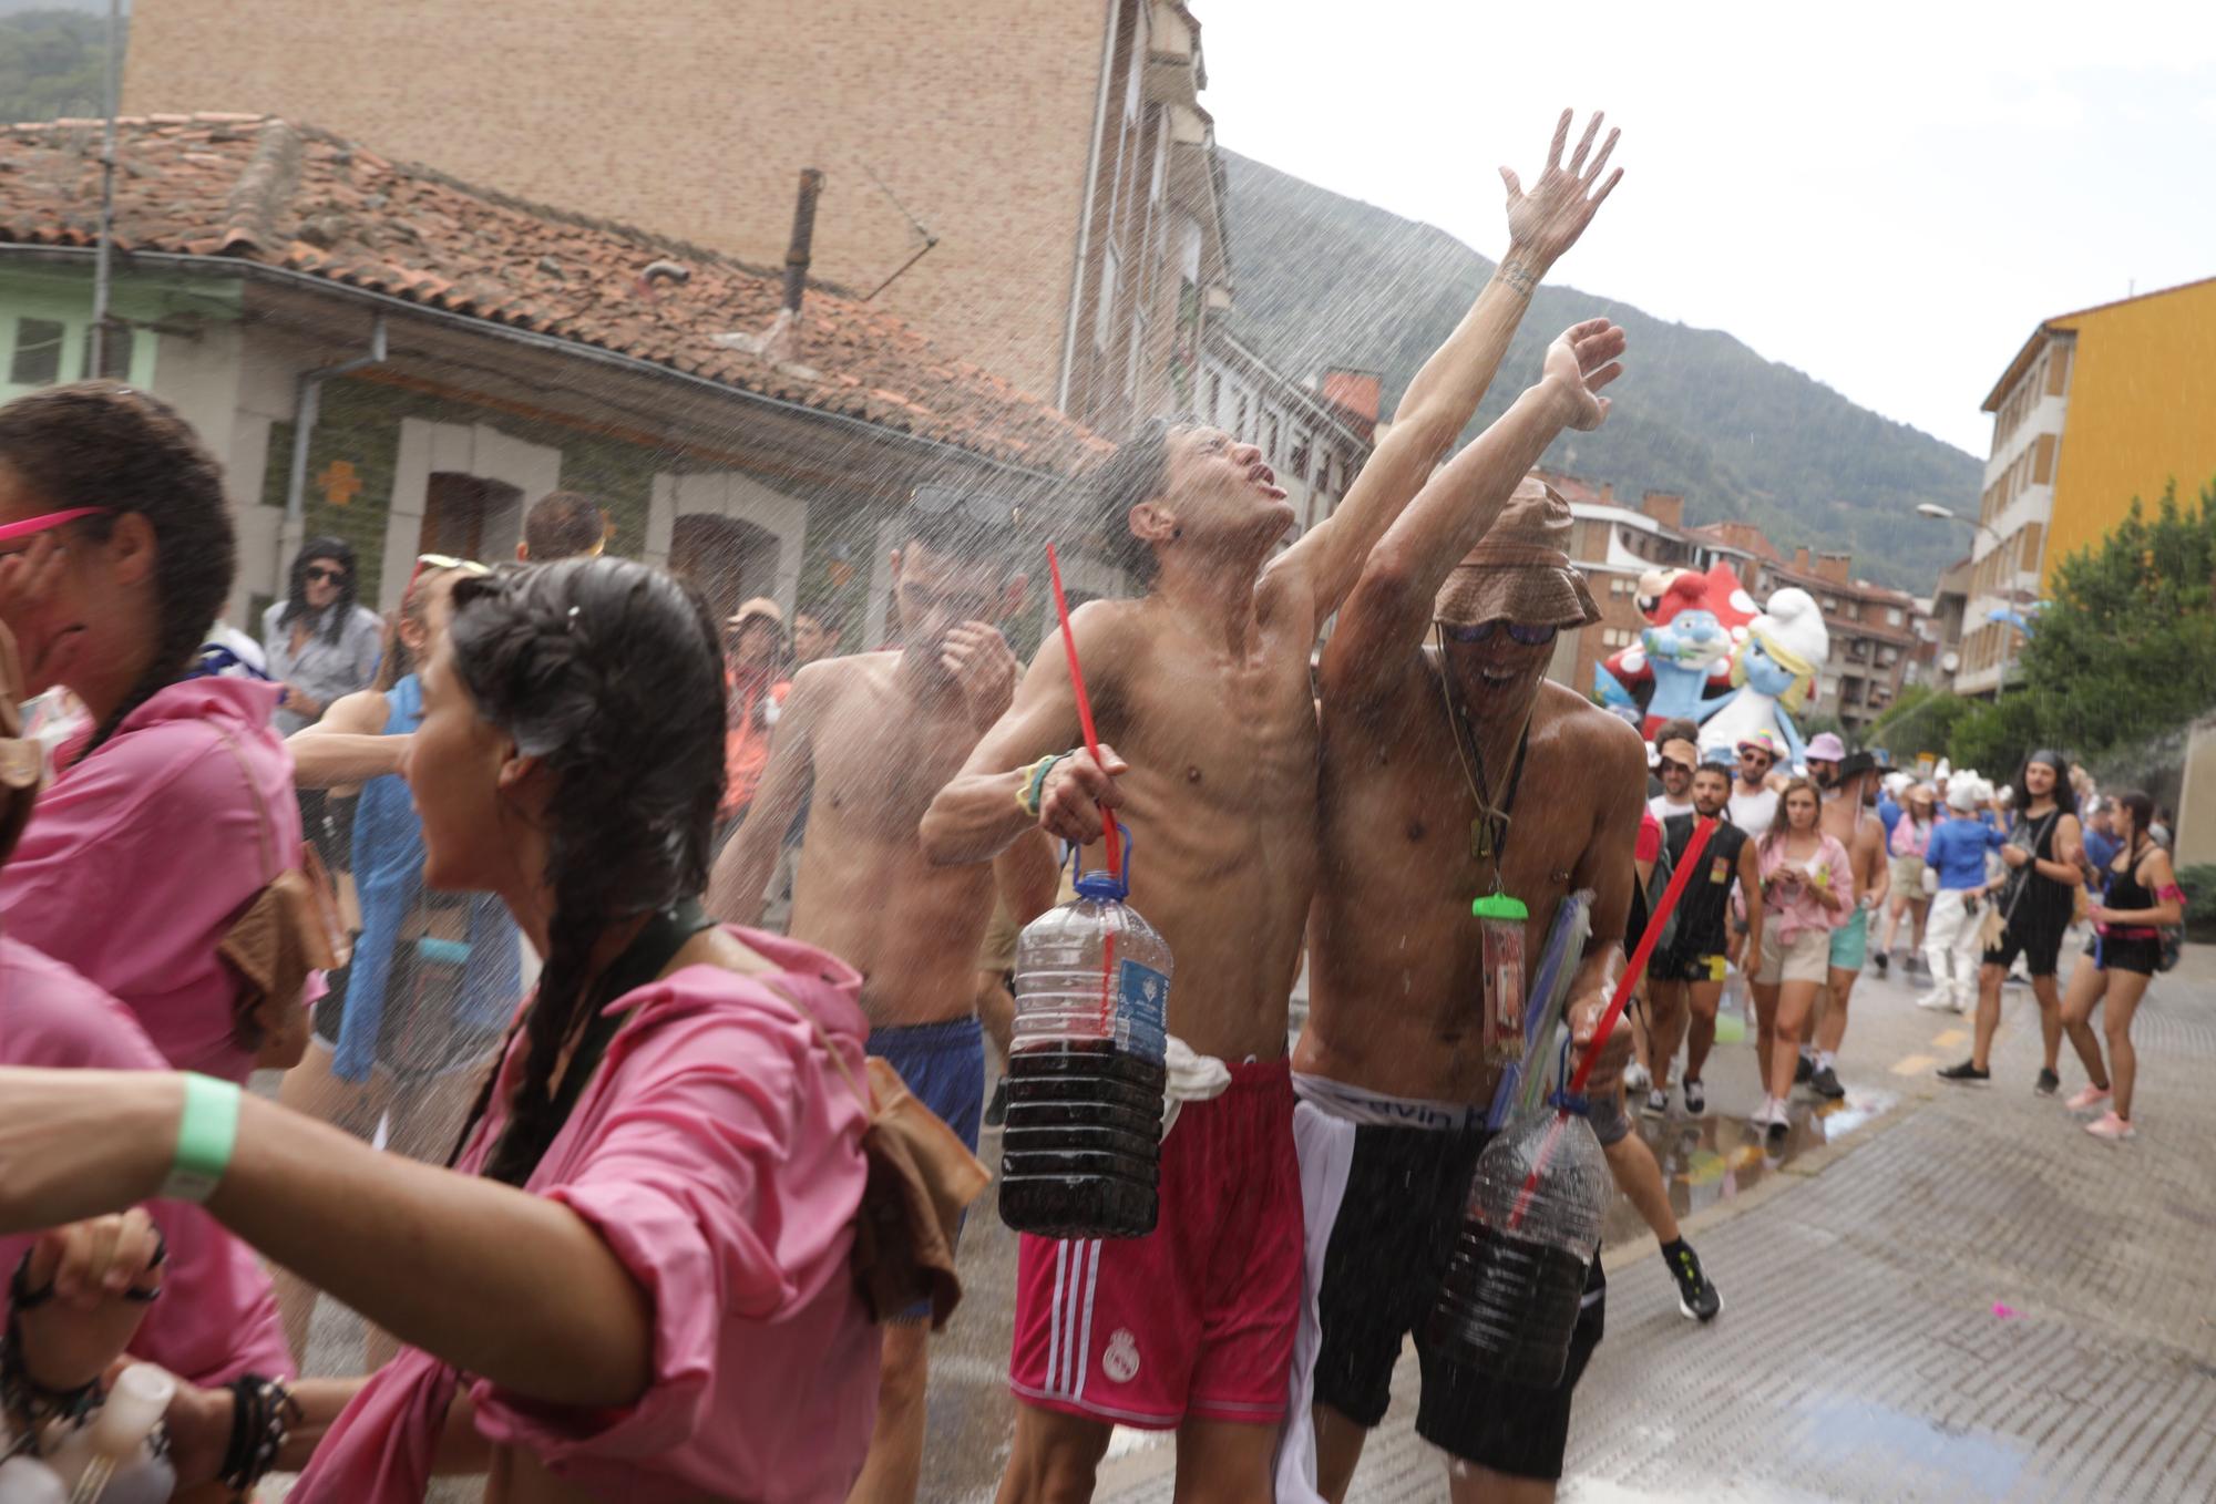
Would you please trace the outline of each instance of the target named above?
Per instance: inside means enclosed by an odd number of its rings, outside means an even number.
[[[0,244],[91,246],[98,120],[0,128]],[[776,275],[647,230],[525,204],[259,115],[117,122],[115,246],[279,266],[598,346],[820,412],[1068,472],[1106,443],[900,319],[811,286],[778,359]],[[674,264],[685,279],[643,277]]]

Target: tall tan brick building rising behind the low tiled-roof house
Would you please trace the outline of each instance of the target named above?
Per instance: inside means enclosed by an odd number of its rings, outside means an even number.
[[[312,120],[758,266],[820,168],[820,281],[1119,434],[1194,403],[1228,306],[1203,84],[1177,0],[135,0],[124,109]]]

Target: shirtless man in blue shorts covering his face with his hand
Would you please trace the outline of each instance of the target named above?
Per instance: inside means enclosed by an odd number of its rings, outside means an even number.
[[[760,921],[762,890],[807,800],[791,935],[862,972],[869,1052],[975,1150],[977,946],[995,879],[1008,910],[1030,919],[1055,899],[1055,855],[1030,833],[997,862],[935,866],[915,824],[1008,709],[1017,662],[995,622],[1019,605],[1024,576],[1006,501],[926,485],[902,521],[893,600],[906,647],[800,669],[753,813],[716,859],[707,908],[729,924]],[[878,1422],[849,1500],[915,1500],[929,1316],[926,1302],[884,1329]]]

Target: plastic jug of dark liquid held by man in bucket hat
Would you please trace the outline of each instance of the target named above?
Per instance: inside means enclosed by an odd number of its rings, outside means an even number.
[[[1558,1112],[1547,1105],[1485,1145],[1432,1309],[1432,1340],[1454,1362],[1516,1384],[1562,1380],[1611,1189],[1609,1161],[1582,1103],[1573,1103],[1560,1130],[1556,1123]],[[1542,1154],[1545,1170],[1527,1194]]]

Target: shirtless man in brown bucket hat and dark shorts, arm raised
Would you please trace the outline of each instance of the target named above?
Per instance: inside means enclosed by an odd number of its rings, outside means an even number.
[[[1646,753],[1638,731],[1545,678],[1556,636],[1600,611],[1569,567],[1569,505],[1536,478],[1518,485],[1560,427],[1600,425],[1593,390],[1615,377],[1620,350],[1622,330],[1604,321],[1547,350],[1540,383],[1385,534],[1323,649],[1325,873],[1294,1070],[1321,1316],[1316,1486],[1334,1502],[1385,1415],[1409,1331],[1423,1358],[1416,1429],[1456,1460],[1454,1497],[1551,1497],[1569,1389],[1600,1340],[1598,1258],[1556,1389],[1456,1369],[1425,1325],[1498,1074],[1485,1061],[1471,899],[1525,902],[1529,981],[1560,902],[1593,890],[1569,988],[1580,1041],[1622,970]],[[1629,1132],[1618,1094],[1629,1052],[1618,1030],[1589,1083],[1602,1143]],[[1296,1440],[1287,1464],[1292,1453]]]

